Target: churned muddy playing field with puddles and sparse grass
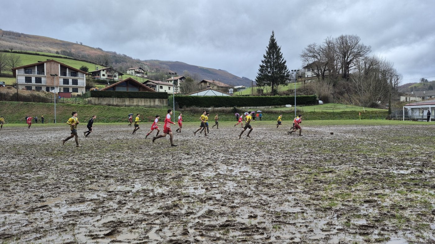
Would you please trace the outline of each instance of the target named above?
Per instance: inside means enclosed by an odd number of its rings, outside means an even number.
[[[0,240],[435,243],[435,127],[272,123],[187,124],[177,147],[151,123],[80,124],[82,148],[67,125],[3,127]]]

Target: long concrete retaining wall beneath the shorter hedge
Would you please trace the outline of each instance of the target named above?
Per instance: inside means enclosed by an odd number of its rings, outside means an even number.
[[[151,98],[86,98],[88,104],[120,107],[161,107],[168,106],[167,99]]]

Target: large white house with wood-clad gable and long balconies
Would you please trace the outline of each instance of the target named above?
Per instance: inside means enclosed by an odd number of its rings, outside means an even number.
[[[73,95],[85,92],[88,75],[53,59],[15,67],[12,72],[17,78],[17,89],[70,92]]]

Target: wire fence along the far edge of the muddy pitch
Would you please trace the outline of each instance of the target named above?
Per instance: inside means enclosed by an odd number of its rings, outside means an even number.
[[[405,115],[405,118],[403,117],[403,115],[390,115],[391,116],[391,120],[405,120],[405,121],[426,121],[427,120],[427,116],[408,116]],[[199,119],[200,117],[183,117],[183,121],[184,122],[198,122],[200,121]],[[314,115],[314,116],[310,116],[310,115],[304,115],[304,120],[359,120],[361,118],[361,120],[386,120],[389,119],[388,118],[388,114],[364,114],[361,115],[361,117],[357,114],[357,115]],[[62,124],[62,123],[67,123],[69,118],[57,118],[56,123],[57,124]],[[79,120],[81,120],[82,124],[86,123],[86,121],[89,118],[79,118]],[[155,117],[141,117],[141,123],[150,123],[150,122],[154,122]],[[173,117],[173,121],[177,120],[177,117]],[[283,117],[283,120],[293,120],[294,117]],[[5,120],[5,124],[26,124],[26,119],[16,119],[16,120],[8,120],[8,119],[4,119]],[[163,122],[164,119],[160,119],[160,122]],[[263,116],[261,117],[261,120],[259,118],[254,118],[254,120],[257,121],[276,121],[277,117],[276,116]],[[231,122],[237,122],[237,119],[235,116],[228,116],[228,117],[219,117],[219,121],[220,122],[225,122],[225,121],[231,121]],[[435,115],[430,117],[430,121],[435,121]],[[134,122],[134,118],[133,118],[133,122]],[[208,120],[209,123],[214,123],[214,117],[209,117]],[[128,118],[102,118],[102,117],[97,117],[97,119],[95,120],[95,123],[129,123],[128,122]],[[42,123],[41,119],[38,119],[38,123],[36,123],[34,120],[32,120],[32,124],[54,124],[54,117],[45,117],[44,118],[44,123]]]

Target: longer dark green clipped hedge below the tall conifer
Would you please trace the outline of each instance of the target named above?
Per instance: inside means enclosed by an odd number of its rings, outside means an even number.
[[[168,98],[172,104],[172,95]],[[175,102],[179,107],[252,107],[252,106],[274,106],[294,105],[294,96],[183,96],[175,95]],[[296,96],[296,104],[308,105],[317,102],[315,95]]]

